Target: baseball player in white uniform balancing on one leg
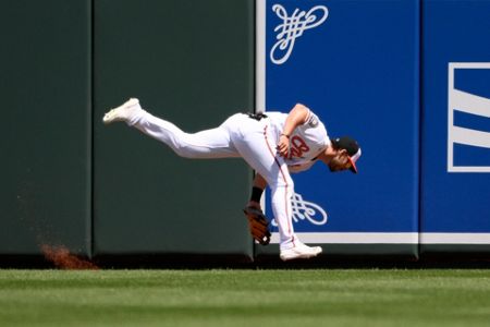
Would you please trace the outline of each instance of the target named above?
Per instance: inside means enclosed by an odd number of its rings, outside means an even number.
[[[123,121],[167,144],[181,157],[242,157],[256,171],[245,209],[250,232],[260,243],[268,243],[265,240],[270,238],[267,223],[264,228],[253,222],[250,216],[260,216],[260,197],[269,185],[282,261],[309,258],[322,252],[320,246],[303,244],[294,233],[291,203],[294,183],[290,173],[309,169],[317,161],[326,164],[331,171],[348,169],[356,173],[356,161],[360,157],[356,141],[347,136],[331,140],[318,117],[301,104],[289,113],[236,113],[216,129],[191,134],[150,114],[142,109],[138,99],[131,98],[103,117],[106,124],[115,121]]]

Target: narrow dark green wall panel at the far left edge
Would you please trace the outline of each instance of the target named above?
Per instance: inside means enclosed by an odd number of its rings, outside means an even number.
[[[90,3],[0,3],[1,254],[89,255]]]

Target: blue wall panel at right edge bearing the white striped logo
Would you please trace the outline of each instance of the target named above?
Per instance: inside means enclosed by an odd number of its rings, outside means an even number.
[[[421,242],[490,243],[490,1],[422,12]]]

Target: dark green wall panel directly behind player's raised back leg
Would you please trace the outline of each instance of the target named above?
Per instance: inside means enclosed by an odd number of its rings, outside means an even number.
[[[189,160],[103,112],[138,97],[186,132],[254,106],[254,1],[95,3],[95,251],[252,256],[240,159]]]

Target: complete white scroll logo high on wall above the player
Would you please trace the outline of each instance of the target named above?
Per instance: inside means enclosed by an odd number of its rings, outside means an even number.
[[[304,31],[317,27],[329,15],[324,5],[316,5],[308,12],[295,9],[291,16],[281,4],[272,5],[272,11],[283,21],[274,28],[274,32],[280,32],[275,36],[278,41],[270,50],[270,60],[275,64],[282,64],[290,58],[296,38],[302,36]]]

